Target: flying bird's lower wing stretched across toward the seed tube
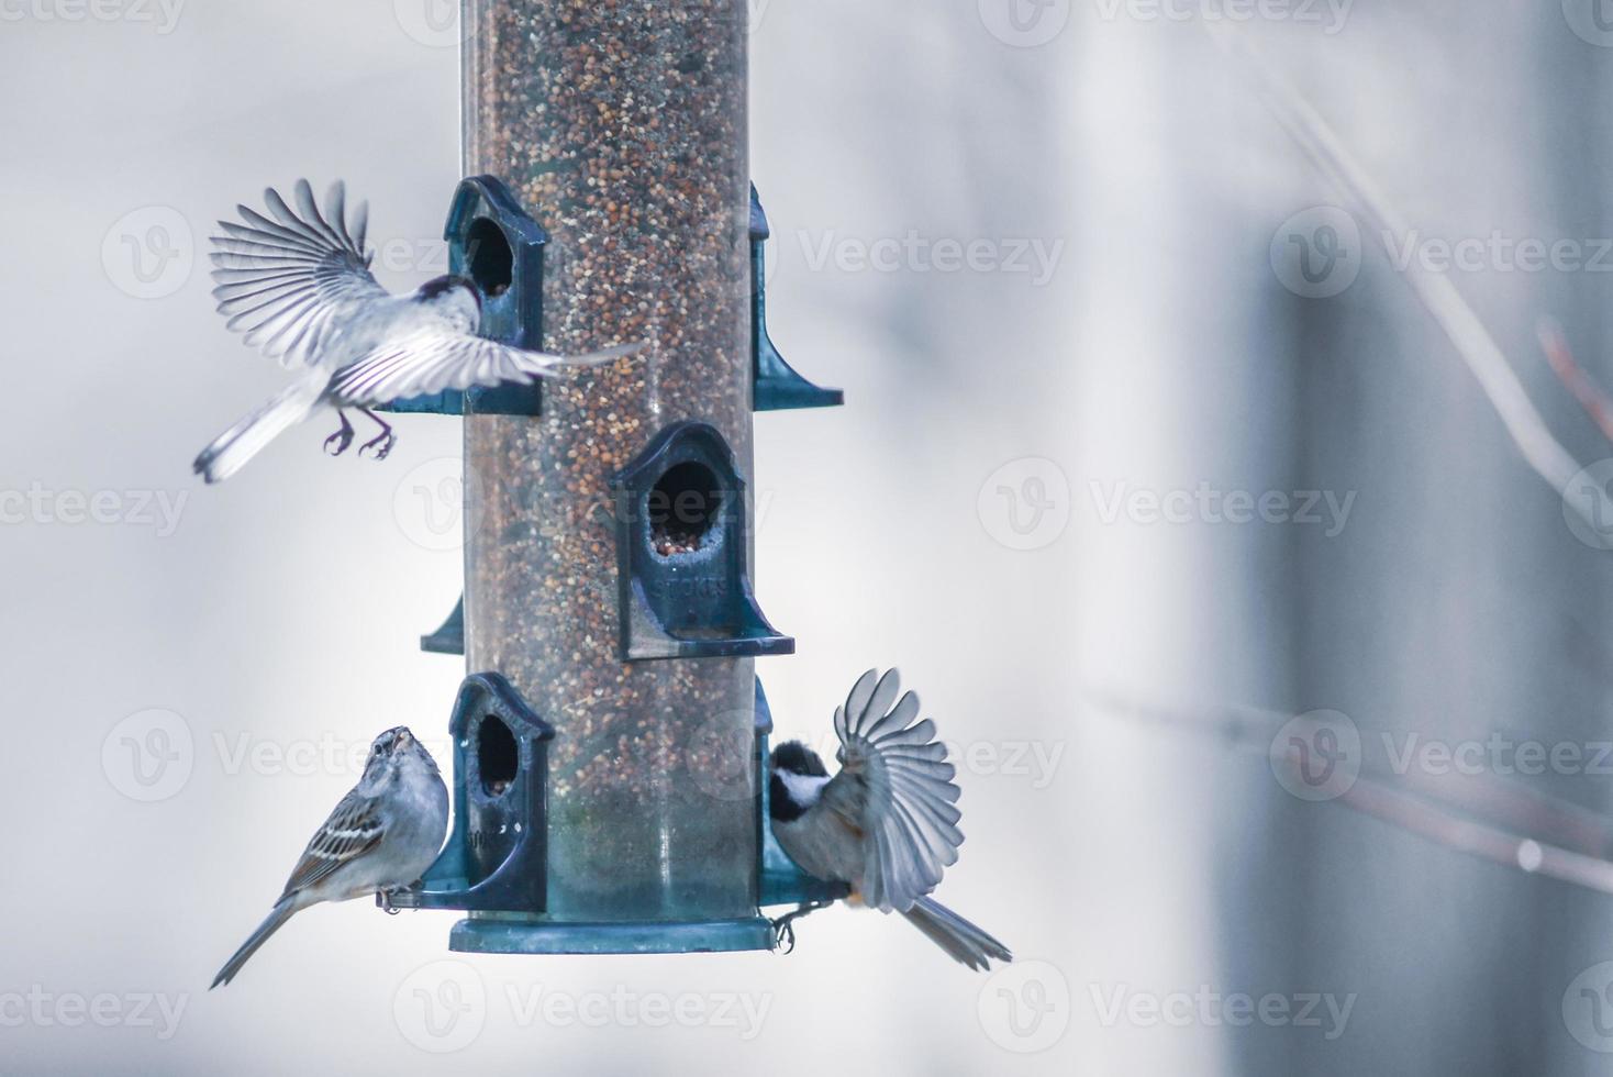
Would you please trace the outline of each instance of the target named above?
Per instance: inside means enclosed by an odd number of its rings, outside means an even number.
[[[566,366],[597,366],[637,350],[637,345],[626,345],[592,355],[558,356],[523,351],[469,334],[424,331],[389,342],[342,368],[331,379],[327,393],[342,406],[374,406],[445,389],[532,382]]]

